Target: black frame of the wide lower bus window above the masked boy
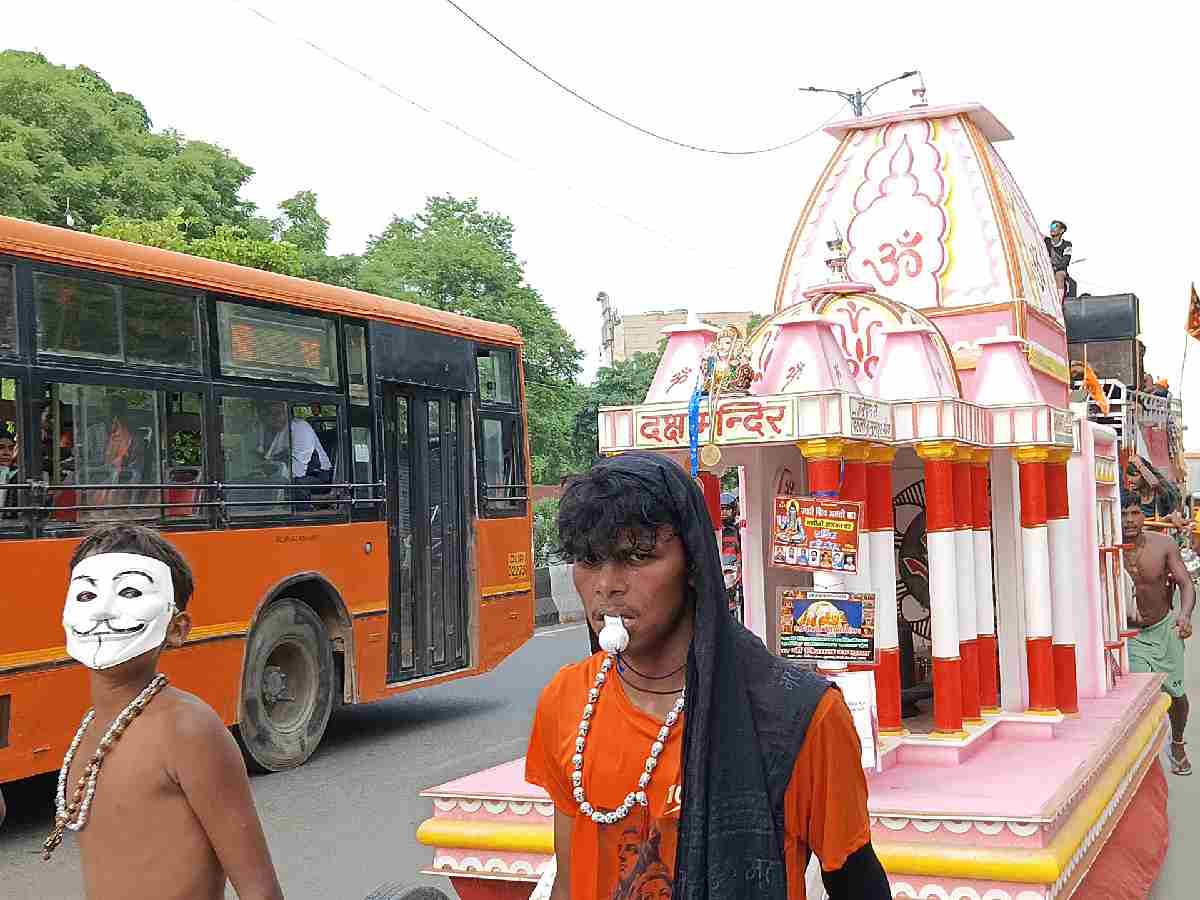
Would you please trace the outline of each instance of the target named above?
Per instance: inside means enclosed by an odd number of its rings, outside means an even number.
[[[188,380],[182,378],[150,378],[143,374],[134,374],[127,372],[122,368],[115,367],[116,371],[109,370],[106,372],[97,372],[92,368],[49,368],[46,366],[32,367],[32,376],[29,379],[29,397],[28,402],[23,403],[25,410],[25,418],[29,421],[26,427],[32,428],[29,433],[38,434],[36,442],[30,440],[28,450],[22,450],[23,456],[28,452],[32,456],[31,468],[29,472],[38,473],[38,480],[41,480],[41,473],[44,472],[42,466],[42,442],[41,442],[41,404],[44,402],[46,391],[52,384],[73,384],[80,386],[91,388],[125,388],[128,390],[144,390],[154,392],[155,395],[174,391],[178,394],[197,394],[200,396],[200,402],[203,404],[203,410],[200,418],[204,422],[204,427],[200,433],[200,452],[204,457],[206,466],[208,481],[202,484],[215,484],[216,479],[212,476],[212,452],[211,452],[211,431],[210,431],[210,416],[212,409],[212,389],[211,385],[196,380]],[[2,367],[0,367],[2,371]],[[18,383],[19,384],[19,383]],[[158,450],[160,455],[163,451],[163,436],[158,436]],[[162,464],[162,458],[158,460],[160,466]],[[47,484],[47,487],[52,485]],[[61,487],[61,485],[55,485],[54,487]],[[209,499],[215,498],[215,491],[209,494]],[[49,494],[46,496],[43,505],[48,505]],[[31,504],[32,505],[32,504]],[[162,506],[166,508],[170,504],[163,503]],[[138,521],[139,524],[148,524],[154,528],[164,528],[172,532],[196,532],[196,530],[214,530],[217,526],[215,524],[215,506],[204,506],[198,516],[191,518],[179,518],[169,520],[163,516],[158,518],[149,518]],[[35,538],[66,538],[71,535],[82,534],[90,528],[95,528],[98,524],[104,524],[103,520],[90,520],[84,522],[60,522],[49,517],[48,510],[41,512],[25,514],[26,516],[34,517],[32,536]]]

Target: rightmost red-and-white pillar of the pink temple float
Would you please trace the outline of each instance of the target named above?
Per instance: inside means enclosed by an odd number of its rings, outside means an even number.
[[[1070,449],[1051,448],[1046,461],[1046,536],[1050,539],[1050,587],[1054,612],[1054,694],[1060,712],[1079,712],[1075,671],[1075,611],[1070,547],[1070,503],[1067,499],[1067,462]]]

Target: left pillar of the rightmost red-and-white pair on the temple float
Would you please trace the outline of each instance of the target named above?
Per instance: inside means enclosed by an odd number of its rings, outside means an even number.
[[[1021,563],[1025,570],[1025,654],[1031,713],[1057,713],[1054,688],[1054,610],[1050,593],[1050,538],[1046,532],[1046,458],[1044,446],[1020,446]]]

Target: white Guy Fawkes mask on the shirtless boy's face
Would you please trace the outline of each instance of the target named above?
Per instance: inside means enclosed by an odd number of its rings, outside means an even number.
[[[137,553],[97,553],[71,570],[62,629],[67,653],[88,668],[112,668],[167,640],[175,616],[167,564]]]

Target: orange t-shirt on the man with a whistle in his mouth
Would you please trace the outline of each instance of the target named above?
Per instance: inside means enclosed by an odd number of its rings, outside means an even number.
[[[575,818],[571,828],[574,900],[671,900],[679,824],[679,758],[683,716],[671,728],[647,788],[649,806],[635,806],[622,822],[605,826],[580,815],[572,796],[575,739],[583,704],[604,654],[564,667],[546,686],[526,756],[526,780],[546,788],[554,808]],[[616,670],[600,691],[583,751],[588,803],[616,809],[646,766],[662,722],[635,707]],[[826,871],[871,839],[860,744],[841,694],[830,690],[812,714],[784,797],[788,900],[804,900],[808,851]]]

